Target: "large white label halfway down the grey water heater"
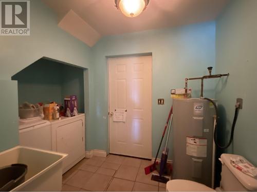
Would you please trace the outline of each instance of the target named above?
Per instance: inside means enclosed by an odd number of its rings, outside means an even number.
[[[187,155],[207,157],[207,139],[187,137]]]

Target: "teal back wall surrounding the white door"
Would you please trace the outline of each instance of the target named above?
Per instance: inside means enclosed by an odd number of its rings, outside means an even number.
[[[89,148],[108,151],[108,80],[106,56],[152,53],[152,153],[156,154],[171,107],[170,90],[183,88],[186,77],[203,76],[215,67],[215,22],[103,37],[92,49],[93,65]],[[215,73],[215,68],[213,73]],[[189,82],[199,97],[200,81]],[[214,96],[214,81],[206,81],[205,96]],[[164,105],[157,105],[164,98]],[[169,153],[171,154],[171,152]]]

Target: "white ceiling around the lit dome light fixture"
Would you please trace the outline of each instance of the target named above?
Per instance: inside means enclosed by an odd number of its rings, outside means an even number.
[[[101,36],[213,20],[229,0],[150,0],[137,17],[124,16],[114,0],[42,0],[57,13],[59,22],[73,10]],[[70,32],[69,32],[70,33]]]

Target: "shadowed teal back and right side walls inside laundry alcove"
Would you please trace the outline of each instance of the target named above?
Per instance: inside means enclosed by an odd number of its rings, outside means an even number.
[[[18,81],[19,105],[29,103],[64,104],[65,96],[77,95],[78,110],[84,113],[83,69],[48,59],[39,59],[12,76]]]

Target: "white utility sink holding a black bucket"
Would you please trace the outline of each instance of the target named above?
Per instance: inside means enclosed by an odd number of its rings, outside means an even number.
[[[0,167],[15,163],[28,166],[25,181],[12,191],[56,191],[62,189],[62,161],[67,154],[16,146],[0,153]]]

